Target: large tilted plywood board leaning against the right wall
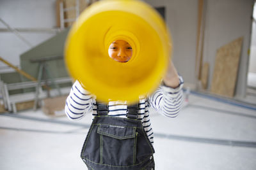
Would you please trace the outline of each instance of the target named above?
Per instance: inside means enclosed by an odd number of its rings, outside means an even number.
[[[217,50],[211,83],[212,93],[234,97],[242,42],[243,38],[238,38]]]

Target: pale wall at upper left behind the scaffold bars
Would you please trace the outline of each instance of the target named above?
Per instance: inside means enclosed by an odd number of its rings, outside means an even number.
[[[56,26],[55,0],[0,0],[0,18],[13,28],[53,28]],[[6,28],[0,22],[0,28]],[[55,32],[20,32],[33,46],[51,38]],[[0,56],[15,66],[19,55],[30,46],[12,32],[0,32]],[[10,71],[0,62],[0,73]]]

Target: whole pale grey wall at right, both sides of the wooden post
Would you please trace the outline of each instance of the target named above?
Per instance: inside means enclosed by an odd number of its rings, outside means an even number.
[[[173,62],[186,83],[195,84],[195,55],[198,0],[145,0],[152,6],[166,7],[166,22],[173,37]],[[214,70],[216,50],[244,37],[237,80],[237,97],[245,95],[248,49],[253,0],[205,0],[204,62],[209,62],[209,87]]]

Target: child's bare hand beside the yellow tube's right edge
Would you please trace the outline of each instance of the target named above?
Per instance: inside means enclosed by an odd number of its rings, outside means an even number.
[[[169,61],[168,69],[163,78],[163,81],[166,86],[172,87],[173,89],[178,87],[180,84],[179,74],[177,73],[177,70],[176,70],[175,66],[173,65],[172,60]]]

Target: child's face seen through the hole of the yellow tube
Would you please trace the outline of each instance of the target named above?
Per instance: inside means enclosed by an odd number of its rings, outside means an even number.
[[[108,55],[118,62],[127,62],[132,57],[132,47],[124,40],[116,40],[109,46]]]

